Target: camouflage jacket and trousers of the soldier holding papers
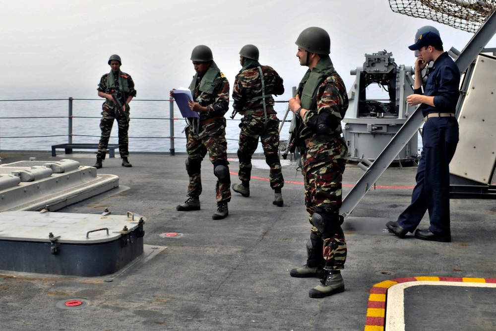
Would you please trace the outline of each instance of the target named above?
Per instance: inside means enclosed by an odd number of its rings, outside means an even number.
[[[217,68],[212,61],[210,68]],[[218,68],[217,68],[218,69]],[[214,169],[218,165],[228,168],[227,140],[226,140],[226,118],[224,114],[229,109],[229,82],[222,72],[219,72],[212,82],[213,92],[200,91],[200,83],[203,77],[193,78],[191,86],[193,100],[200,106],[207,107],[206,113],[200,113],[200,118],[188,118],[186,127],[186,151],[187,173],[189,175],[188,196],[199,196],[201,187],[201,161],[207,151],[210,162]],[[229,171],[226,178],[217,180],[215,185],[217,202],[229,202],[231,200],[231,178]]]

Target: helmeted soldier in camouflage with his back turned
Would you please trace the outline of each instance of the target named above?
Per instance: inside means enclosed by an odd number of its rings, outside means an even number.
[[[233,184],[233,191],[249,197],[251,156],[260,138],[265,162],[270,167],[270,187],[274,190],[272,203],[282,206],[284,178],[279,160],[279,119],[274,110],[272,94],[284,93],[284,86],[282,78],[272,67],[260,65],[258,55],[258,48],[254,45],[245,45],[241,49],[240,63],[243,68],[236,76],[233,87],[232,117],[236,112],[243,115],[238,149],[241,184]],[[263,79],[260,79],[262,75]]]

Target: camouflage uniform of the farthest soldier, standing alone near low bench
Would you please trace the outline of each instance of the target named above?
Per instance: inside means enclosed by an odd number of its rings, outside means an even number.
[[[107,78],[109,74],[106,73],[100,79],[100,83],[98,84],[97,90],[99,92],[111,93],[113,92],[111,88],[107,85]],[[119,71],[119,74],[115,75],[115,86],[119,87],[119,76],[127,80],[127,86],[129,88],[128,92],[124,92],[121,90],[117,90],[117,96],[120,100],[126,100],[128,96],[135,97],[136,90],[134,89],[134,82],[129,74]],[[124,93],[124,96],[122,96]],[[124,105],[124,103],[123,103]],[[100,121],[100,129],[102,131],[102,136],[100,138],[100,142],[98,144],[98,153],[97,158],[101,158],[105,160],[105,155],[107,152],[107,146],[109,145],[110,132],[112,131],[112,126],[114,125],[114,120],[117,119],[117,124],[119,127],[119,153],[121,157],[129,156],[129,138],[127,135],[127,131],[129,130],[129,105],[126,109],[126,115],[119,110],[119,106],[116,105],[113,101],[105,100],[102,105],[102,119]]]

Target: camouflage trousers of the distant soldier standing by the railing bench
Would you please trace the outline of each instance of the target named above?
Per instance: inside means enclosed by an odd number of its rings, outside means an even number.
[[[127,112],[129,115],[129,112]],[[129,156],[129,137],[127,131],[129,130],[129,120],[121,114],[117,108],[103,108],[102,119],[100,120],[100,130],[102,131],[102,136],[100,137],[100,142],[98,143],[98,152],[96,156],[105,160],[105,155],[107,153],[107,146],[109,145],[110,132],[112,132],[112,127],[114,126],[114,120],[117,119],[117,125],[119,127],[119,153],[121,157]]]

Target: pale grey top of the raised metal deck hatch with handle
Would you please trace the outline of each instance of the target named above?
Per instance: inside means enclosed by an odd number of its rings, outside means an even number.
[[[0,240],[50,242],[52,233],[54,237],[60,236],[59,243],[105,243],[135,230],[140,218],[145,220],[131,212],[117,215],[4,211],[0,212]]]

